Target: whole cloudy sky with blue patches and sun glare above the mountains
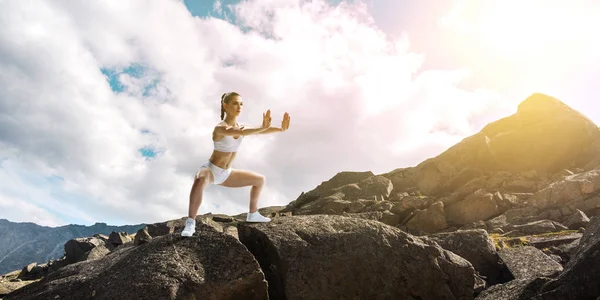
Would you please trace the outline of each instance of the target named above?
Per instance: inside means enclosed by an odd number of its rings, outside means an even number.
[[[45,226],[187,215],[220,97],[248,136],[233,163],[286,205],[341,171],[438,155],[554,96],[600,124],[592,0],[0,0],[0,218]],[[209,186],[199,214],[247,212]]]

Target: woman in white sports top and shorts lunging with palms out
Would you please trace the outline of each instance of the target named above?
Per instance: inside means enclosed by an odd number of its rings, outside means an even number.
[[[192,236],[196,232],[196,214],[202,203],[202,194],[209,184],[224,187],[245,187],[250,189],[250,211],[247,222],[269,222],[271,219],[258,212],[258,197],[265,184],[263,175],[232,169],[231,163],[235,158],[238,147],[244,137],[253,134],[265,134],[286,131],[290,126],[290,116],[283,115],[281,128],[271,127],[271,110],[263,113],[263,122],[259,128],[247,128],[240,125],[236,119],[242,112],[242,98],[238,93],[226,93],[221,97],[221,122],[215,126],[212,139],[214,151],[210,159],[204,163],[194,177],[190,192],[190,206],[185,228],[181,236]]]

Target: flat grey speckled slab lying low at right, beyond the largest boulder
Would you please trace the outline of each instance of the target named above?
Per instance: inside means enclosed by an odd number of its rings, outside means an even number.
[[[515,279],[553,277],[563,270],[559,263],[531,246],[503,248],[498,255]]]

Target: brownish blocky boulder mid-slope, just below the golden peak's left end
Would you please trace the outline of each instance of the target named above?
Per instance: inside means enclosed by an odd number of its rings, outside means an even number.
[[[499,214],[494,195],[484,190],[478,190],[465,200],[446,207],[448,222],[460,225],[486,220]]]

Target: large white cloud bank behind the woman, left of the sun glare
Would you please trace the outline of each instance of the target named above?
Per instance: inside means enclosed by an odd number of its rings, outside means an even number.
[[[49,197],[94,221],[156,222],[187,214],[225,91],[242,94],[242,121],[258,125],[269,108],[276,124],[292,118],[284,134],[247,137],[234,163],[267,176],[261,206],[339,171],[416,164],[514,107],[458,88],[461,71],[419,73],[424,58],[364,5],[257,0],[233,11],[253,30],[193,18],[175,0],[0,2],[0,157],[64,178],[61,191],[81,198]],[[114,94],[100,69],[133,63],[149,73],[124,75]],[[146,160],[147,145],[164,152]],[[211,186],[200,213],[245,212],[248,196]]]

